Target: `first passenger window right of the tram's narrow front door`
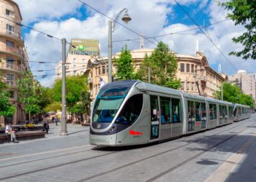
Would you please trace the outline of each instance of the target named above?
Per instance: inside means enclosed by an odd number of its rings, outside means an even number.
[[[160,97],[161,123],[170,123],[170,98]]]

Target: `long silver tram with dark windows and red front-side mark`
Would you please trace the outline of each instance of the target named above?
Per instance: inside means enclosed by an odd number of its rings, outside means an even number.
[[[89,141],[96,146],[163,141],[233,123],[242,119],[234,116],[239,111],[249,117],[245,108],[136,80],[112,82],[94,100]]]

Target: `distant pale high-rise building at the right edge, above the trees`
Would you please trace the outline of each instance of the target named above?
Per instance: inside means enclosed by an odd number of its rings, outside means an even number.
[[[254,73],[246,73],[239,70],[236,74],[228,76],[233,84],[236,84],[246,95],[252,95],[256,105],[256,78]]]

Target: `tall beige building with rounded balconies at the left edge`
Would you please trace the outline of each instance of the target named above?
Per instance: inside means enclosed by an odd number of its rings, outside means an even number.
[[[20,34],[22,17],[18,4],[12,0],[0,0],[0,73],[1,81],[10,86],[10,103],[16,107],[14,116],[0,116],[0,124],[12,121],[14,124],[25,119],[23,106],[18,103],[18,90],[16,81],[22,71],[29,69],[28,55]]]

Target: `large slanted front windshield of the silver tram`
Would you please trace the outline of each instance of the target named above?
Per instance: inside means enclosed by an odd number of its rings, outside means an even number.
[[[133,82],[121,82],[102,87],[95,100],[92,122],[112,122],[132,84]]]

